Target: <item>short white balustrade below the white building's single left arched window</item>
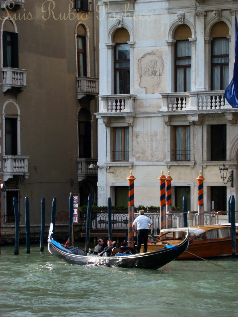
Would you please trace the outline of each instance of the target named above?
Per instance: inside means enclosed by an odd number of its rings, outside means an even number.
[[[102,99],[100,112],[134,112],[136,95],[107,95],[100,97]]]

